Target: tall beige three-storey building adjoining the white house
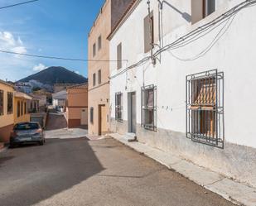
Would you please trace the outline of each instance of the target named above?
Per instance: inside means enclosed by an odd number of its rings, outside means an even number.
[[[106,0],[89,31],[88,59],[109,60],[110,31],[131,0]],[[116,58],[114,58],[115,60]],[[109,132],[109,62],[89,61],[89,135]]]

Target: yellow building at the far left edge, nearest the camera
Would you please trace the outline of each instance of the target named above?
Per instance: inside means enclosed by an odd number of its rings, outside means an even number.
[[[13,129],[13,93],[11,84],[0,80],[0,142],[9,142]]]

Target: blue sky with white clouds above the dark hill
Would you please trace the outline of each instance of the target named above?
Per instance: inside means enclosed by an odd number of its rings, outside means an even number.
[[[0,7],[27,0],[0,0]],[[87,37],[104,0],[39,0],[0,9],[0,50],[64,58],[87,58]],[[0,52],[0,79],[19,80],[63,66],[87,77],[87,63],[46,60]]]

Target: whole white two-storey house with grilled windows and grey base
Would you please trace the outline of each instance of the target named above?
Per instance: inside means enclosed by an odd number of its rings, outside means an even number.
[[[109,41],[113,132],[256,186],[255,0],[134,0]]]

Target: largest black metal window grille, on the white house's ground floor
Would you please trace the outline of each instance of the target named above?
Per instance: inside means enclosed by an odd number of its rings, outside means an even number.
[[[224,148],[224,73],[186,76],[186,137]]]

